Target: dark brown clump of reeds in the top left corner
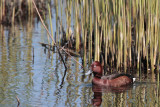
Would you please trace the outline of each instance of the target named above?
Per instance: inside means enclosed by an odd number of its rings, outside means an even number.
[[[47,3],[50,0],[35,0],[40,13],[45,16],[47,11]],[[27,21],[35,18],[37,13],[33,7],[32,0],[1,0],[0,1],[0,23],[4,26],[13,24],[27,23]]]

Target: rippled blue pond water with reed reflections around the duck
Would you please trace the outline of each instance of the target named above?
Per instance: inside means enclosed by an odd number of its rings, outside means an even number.
[[[55,14],[52,21],[56,32]],[[92,76],[84,76],[71,57],[62,54],[68,67],[65,71],[59,54],[40,44],[48,44],[46,35],[37,19],[25,25],[0,25],[0,107],[16,107],[17,99],[20,107],[160,106],[158,73],[141,78],[135,74],[133,86],[123,89],[92,86]],[[74,58],[82,63],[81,57]]]

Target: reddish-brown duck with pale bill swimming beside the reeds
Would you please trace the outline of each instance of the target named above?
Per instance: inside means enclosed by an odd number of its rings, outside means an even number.
[[[127,86],[133,84],[136,80],[136,78],[134,78],[132,75],[124,73],[103,76],[102,65],[99,61],[94,61],[90,66],[90,70],[85,73],[85,75],[89,75],[91,73],[94,75],[92,84],[106,87]]]

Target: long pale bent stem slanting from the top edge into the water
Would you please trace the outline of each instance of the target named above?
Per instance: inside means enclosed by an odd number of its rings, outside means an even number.
[[[83,68],[83,66],[82,66],[76,59],[74,59],[67,51],[65,51],[65,49],[64,49],[63,47],[61,48],[60,46],[58,47],[58,46],[56,45],[53,37],[51,36],[51,34],[49,33],[46,25],[44,24],[44,21],[43,21],[41,15],[40,15],[40,13],[39,13],[39,11],[38,11],[38,9],[37,9],[37,6],[36,6],[34,0],[32,0],[32,2],[33,2],[34,7],[36,8],[36,11],[37,11],[37,13],[38,13],[38,16],[39,16],[39,18],[40,18],[40,20],[41,20],[41,22],[42,22],[42,25],[43,25],[44,28],[46,29],[46,31],[47,31],[48,35],[50,36],[50,38],[52,39],[54,46],[57,47],[58,51],[59,51],[59,49],[62,49],[66,54],[68,54],[75,62],[77,62],[77,63]],[[59,53],[59,54],[60,54],[60,53]],[[60,55],[61,55],[61,54],[60,54]],[[61,55],[61,56],[62,56],[62,55]],[[61,57],[61,58],[62,58],[62,57]],[[62,60],[62,61],[63,61],[63,60]],[[64,63],[64,62],[63,62],[63,63]],[[64,63],[64,65],[65,65],[65,63]],[[65,67],[66,67],[66,66],[65,66]]]

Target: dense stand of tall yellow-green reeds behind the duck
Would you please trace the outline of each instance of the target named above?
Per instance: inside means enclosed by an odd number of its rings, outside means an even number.
[[[84,60],[99,60],[124,71],[153,70],[159,64],[159,1],[68,0],[66,5],[65,36],[70,39],[73,15],[75,49],[82,48]]]

